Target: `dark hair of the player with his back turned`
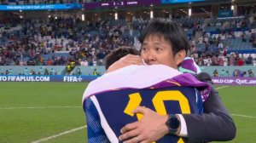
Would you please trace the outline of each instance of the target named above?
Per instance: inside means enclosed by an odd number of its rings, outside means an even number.
[[[106,58],[106,70],[111,66],[115,61],[121,59],[127,54],[135,54],[140,55],[137,49],[133,49],[131,47],[122,46],[119,49],[114,49],[110,54],[107,55]]]

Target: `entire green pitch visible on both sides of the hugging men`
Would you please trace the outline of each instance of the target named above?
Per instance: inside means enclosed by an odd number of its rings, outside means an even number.
[[[0,143],[88,142],[81,107],[86,85],[0,83]],[[236,122],[236,139],[230,142],[255,142],[256,88],[225,87],[218,91]]]

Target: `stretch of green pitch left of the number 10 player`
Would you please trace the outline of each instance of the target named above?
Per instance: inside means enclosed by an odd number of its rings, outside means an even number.
[[[0,143],[32,142],[83,127],[86,85],[0,83]],[[44,142],[87,142],[86,135],[84,128]]]

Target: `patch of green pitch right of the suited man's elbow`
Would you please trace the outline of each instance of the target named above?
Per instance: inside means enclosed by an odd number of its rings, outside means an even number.
[[[218,89],[218,92],[236,123],[236,138],[229,142],[254,143],[256,140],[256,87],[229,86]]]

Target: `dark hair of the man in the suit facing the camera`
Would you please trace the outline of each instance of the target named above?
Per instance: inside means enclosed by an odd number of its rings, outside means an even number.
[[[187,53],[189,42],[187,34],[183,28],[174,21],[166,21],[154,19],[149,22],[141,34],[140,42],[143,43],[145,38],[155,36],[164,37],[164,39],[171,43],[173,55],[184,49]]]

